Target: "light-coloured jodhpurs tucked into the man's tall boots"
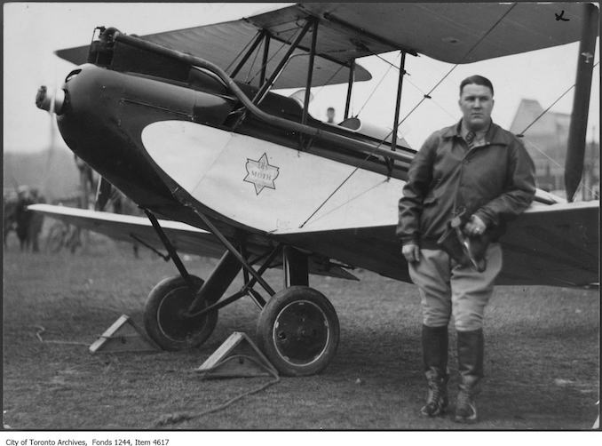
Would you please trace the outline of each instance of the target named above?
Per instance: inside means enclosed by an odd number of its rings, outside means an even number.
[[[502,270],[502,247],[491,243],[486,253],[487,268],[479,273],[462,267],[445,251],[420,250],[420,261],[410,263],[409,275],[420,291],[423,323],[447,326],[454,315],[456,331],[483,328],[485,306]]]

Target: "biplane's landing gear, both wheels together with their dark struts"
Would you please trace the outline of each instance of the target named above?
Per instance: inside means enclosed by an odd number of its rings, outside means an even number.
[[[278,245],[250,262],[244,246],[236,250],[209,219],[194,210],[227,250],[203,282],[188,274],[154,215],[146,212],[180,273],[158,283],[147,300],[145,327],[159,346],[166,350],[200,346],[214,330],[218,310],[250,296],[262,308],[257,321],[257,344],[281,374],[307,376],[326,368],[337,351],[339,323],[329,300],[307,286],[308,259],[303,252]],[[268,267],[273,267],[279,255],[284,289],[274,292],[262,275]],[[263,264],[256,270],[251,264],[259,261]],[[244,278],[241,291],[220,300],[241,269]],[[253,288],[257,283],[271,296],[267,303]]]

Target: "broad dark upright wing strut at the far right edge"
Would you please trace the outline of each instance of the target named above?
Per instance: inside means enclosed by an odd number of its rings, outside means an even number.
[[[583,4],[583,28],[579,44],[577,75],[574,86],[573,113],[568,128],[568,142],[565,162],[566,199],[573,201],[583,172],[585,138],[590,108],[590,88],[593,59],[598,36],[598,8],[594,4]]]

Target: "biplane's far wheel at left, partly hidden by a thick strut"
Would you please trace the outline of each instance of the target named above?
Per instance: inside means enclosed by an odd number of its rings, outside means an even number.
[[[198,290],[204,283],[191,275]],[[148,295],[144,310],[144,325],[148,336],[164,350],[177,351],[200,346],[218,323],[218,310],[207,315],[189,317],[186,310],[194,292],[181,276],[163,279]]]

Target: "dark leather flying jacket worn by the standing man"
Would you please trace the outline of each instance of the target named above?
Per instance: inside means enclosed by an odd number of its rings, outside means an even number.
[[[435,131],[408,170],[396,234],[403,244],[440,249],[436,241],[462,211],[487,225],[492,241],[535,196],[535,166],[522,142],[491,123],[485,143],[469,150],[461,124]]]

